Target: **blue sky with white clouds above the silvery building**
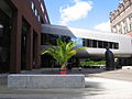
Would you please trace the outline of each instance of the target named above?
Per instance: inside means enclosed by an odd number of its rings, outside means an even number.
[[[52,24],[108,32],[109,13],[119,6],[119,0],[44,1]]]

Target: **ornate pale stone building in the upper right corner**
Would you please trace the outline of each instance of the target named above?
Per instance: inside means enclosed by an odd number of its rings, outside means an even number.
[[[132,35],[132,0],[122,0],[110,12],[111,32]]]

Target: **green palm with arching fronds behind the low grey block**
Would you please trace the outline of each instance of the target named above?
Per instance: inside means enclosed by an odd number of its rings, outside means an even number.
[[[68,59],[76,55],[76,53],[80,50],[86,51],[86,47],[77,47],[75,48],[75,46],[77,45],[76,42],[63,42],[61,38],[57,38],[57,46],[51,45],[48,44],[50,47],[45,48],[41,52],[41,55],[43,54],[50,54],[51,56],[53,56],[53,58],[55,58],[61,65],[61,70],[66,70],[66,64],[68,62]]]

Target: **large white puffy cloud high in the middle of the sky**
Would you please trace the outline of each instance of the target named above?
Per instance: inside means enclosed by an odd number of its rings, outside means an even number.
[[[88,12],[92,9],[91,1],[81,1],[81,0],[72,0],[74,1],[74,6],[66,8],[61,8],[61,24],[67,24],[70,21],[80,20],[86,18]]]

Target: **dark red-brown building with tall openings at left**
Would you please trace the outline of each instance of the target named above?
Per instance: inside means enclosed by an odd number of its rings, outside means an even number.
[[[0,0],[0,73],[40,67],[42,23],[50,24],[44,0]]]

